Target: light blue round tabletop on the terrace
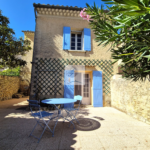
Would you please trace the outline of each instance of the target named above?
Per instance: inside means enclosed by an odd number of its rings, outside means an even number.
[[[44,104],[69,104],[69,103],[74,103],[77,100],[72,99],[72,98],[51,98],[51,99],[45,99],[42,100],[42,103]]]

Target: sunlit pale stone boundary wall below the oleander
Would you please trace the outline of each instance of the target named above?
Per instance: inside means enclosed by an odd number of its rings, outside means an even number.
[[[150,82],[112,79],[111,106],[150,124]]]

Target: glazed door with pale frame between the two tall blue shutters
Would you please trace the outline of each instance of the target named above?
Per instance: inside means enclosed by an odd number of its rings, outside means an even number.
[[[91,90],[90,90],[90,73],[76,72],[75,73],[75,95],[82,96],[82,104],[91,104]]]

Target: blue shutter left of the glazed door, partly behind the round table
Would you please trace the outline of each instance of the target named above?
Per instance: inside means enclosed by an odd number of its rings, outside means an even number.
[[[64,71],[64,98],[74,98],[74,70]],[[64,108],[74,107],[74,103],[64,104]]]

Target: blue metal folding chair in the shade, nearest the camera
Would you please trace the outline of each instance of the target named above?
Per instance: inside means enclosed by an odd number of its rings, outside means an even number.
[[[56,123],[55,123],[53,130],[51,130],[51,128],[48,126],[48,124],[52,119],[57,118],[57,116],[54,117],[55,113],[49,113],[46,111],[41,111],[40,105],[38,104],[37,100],[27,100],[27,101],[29,102],[29,106],[30,106],[30,110],[31,110],[31,116],[33,116],[35,118],[35,120],[37,121],[36,125],[34,126],[34,128],[31,131],[29,136],[33,136],[33,137],[37,138],[38,143],[39,143],[40,139],[42,138],[42,136],[46,130],[46,128],[48,128],[48,131],[52,133],[52,137],[53,137],[54,136],[54,130],[55,130],[55,127],[57,125],[58,119],[56,120]],[[36,108],[37,111],[33,112],[33,110],[32,110],[33,107]],[[44,118],[48,118],[48,120],[45,120]],[[39,138],[32,134],[38,124],[43,128],[43,132],[41,133]],[[44,124],[44,126],[42,124]]]

